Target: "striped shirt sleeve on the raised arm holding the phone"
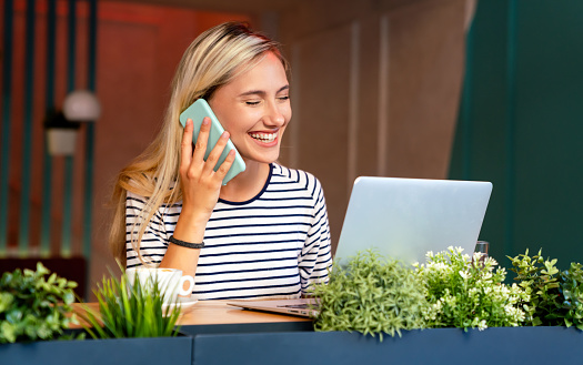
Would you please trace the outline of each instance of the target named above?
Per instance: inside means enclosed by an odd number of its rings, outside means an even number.
[[[137,242],[140,231],[139,219],[145,206],[145,199],[131,192],[127,192],[125,197],[125,250],[127,267],[144,265],[144,263],[158,266],[164,257],[168,249],[169,233],[165,230],[164,221],[160,211],[157,211],[140,242]],[[133,239],[133,244],[132,244]],[[134,246],[139,246],[140,255]]]

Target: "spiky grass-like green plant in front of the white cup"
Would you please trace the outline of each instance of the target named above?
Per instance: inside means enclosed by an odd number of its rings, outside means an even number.
[[[125,273],[120,280],[112,275],[103,277],[93,293],[99,313],[86,305],[86,313],[80,314],[93,338],[167,337],[179,333],[175,323],[180,306],[163,308],[164,296],[155,280],[145,285],[135,280],[130,285]]]

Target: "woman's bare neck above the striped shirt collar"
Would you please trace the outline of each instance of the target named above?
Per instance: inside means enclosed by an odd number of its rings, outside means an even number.
[[[270,165],[245,161],[245,171],[221,187],[219,196],[231,202],[244,202],[261,192],[269,176]]]

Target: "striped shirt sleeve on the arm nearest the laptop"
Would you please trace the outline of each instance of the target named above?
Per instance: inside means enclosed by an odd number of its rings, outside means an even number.
[[[299,257],[300,281],[302,293],[313,283],[328,283],[328,271],[332,265],[330,244],[330,226],[324,191],[318,179],[313,184],[313,217],[308,237]]]

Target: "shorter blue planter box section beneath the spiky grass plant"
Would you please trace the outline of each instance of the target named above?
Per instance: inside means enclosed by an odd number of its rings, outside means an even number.
[[[2,365],[129,365],[192,362],[192,337],[41,341],[0,345]]]

